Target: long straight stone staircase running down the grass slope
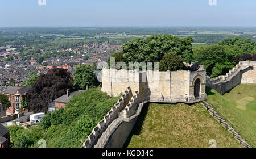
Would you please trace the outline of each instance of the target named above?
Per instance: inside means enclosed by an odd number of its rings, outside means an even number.
[[[210,104],[208,104],[206,101],[201,102],[203,106],[207,109],[207,111],[210,112],[210,115],[212,115],[220,124],[227,130],[229,133],[231,133],[234,138],[245,148],[250,148],[250,145],[242,139],[242,137],[237,133],[230,125],[226,122],[225,119],[223,119],[220,114],[216,110],[213,109]]]

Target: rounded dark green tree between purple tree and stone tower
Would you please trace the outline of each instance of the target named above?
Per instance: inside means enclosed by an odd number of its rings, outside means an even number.
[[[74,86],[76,89],[86,89],[86,85],[98,86],[100,82],[89,65],[77,65],[74,72]]]

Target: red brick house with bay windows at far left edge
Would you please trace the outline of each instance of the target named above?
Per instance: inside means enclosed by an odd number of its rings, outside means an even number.
[[[22,98],[25,97],[27,94],[28,89],[30,87],[7,87],[5,91],[5,95],[9,97],[9,101],[11,103],[11,106],[7,108],[7,112],[13,114],[15,113],[15,110],[19,110],[20,108],[20,101],[22,101]]]

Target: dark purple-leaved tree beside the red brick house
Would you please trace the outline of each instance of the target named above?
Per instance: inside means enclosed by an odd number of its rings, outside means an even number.
[[[48,110],[48,103],[72,89],[73,78],[67,69],[50,69],[48,73],[38,77],[28,90],[28,107],[31,111]]]

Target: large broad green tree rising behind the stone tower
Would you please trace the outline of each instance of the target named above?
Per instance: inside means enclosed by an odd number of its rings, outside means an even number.
[[[122,45],[123,56],[129,62],[155,62],[163,59],[168,52],[181,55],[184,61],[191,62],[191,37],[181,39],[172,35],[152,35],[146,40],[133,39]]]

